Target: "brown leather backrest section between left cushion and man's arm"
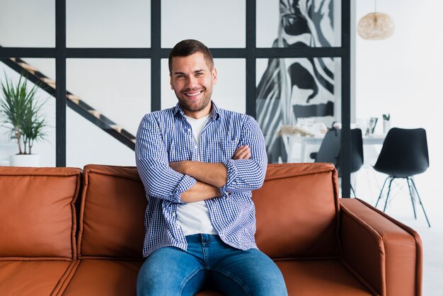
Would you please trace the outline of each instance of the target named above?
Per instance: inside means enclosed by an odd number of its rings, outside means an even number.
[[[136,168],[85,166],[79,258],[142,258],[146,203]]]

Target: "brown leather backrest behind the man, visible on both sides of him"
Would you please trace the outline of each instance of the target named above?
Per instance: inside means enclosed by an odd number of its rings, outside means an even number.
[[[338,182],[332,164],[269,164],[253,201],[255,238],[271,258],[339,256]],[[142,258],[145,208],[136,168],[85,166],[79,258]]]

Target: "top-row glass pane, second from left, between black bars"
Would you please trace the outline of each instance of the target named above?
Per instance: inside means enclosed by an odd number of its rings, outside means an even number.
[[[151,47],[151,1],[67,1],[67,47]]]

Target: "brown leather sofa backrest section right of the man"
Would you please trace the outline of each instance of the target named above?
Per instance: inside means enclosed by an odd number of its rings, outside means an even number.
[[[269,164],[253,201],[255,239],[267,256],[339,256],[338,181],[332,164]]]

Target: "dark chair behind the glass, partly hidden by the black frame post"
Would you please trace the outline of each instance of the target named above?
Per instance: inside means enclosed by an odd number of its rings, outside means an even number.
[[[321,142],[318,152],[310,154],[314,162],[329,162],[337,168],[338,176],[341,176],[340,164],[341,159],[341,130],[332,128],[326,132],[326,135]],[[351,130],[351,173],[358,171],[363,165],[363,139],[362,130],[359,128]],[[352,193],[355,195],[355,190],[351,185]]]

